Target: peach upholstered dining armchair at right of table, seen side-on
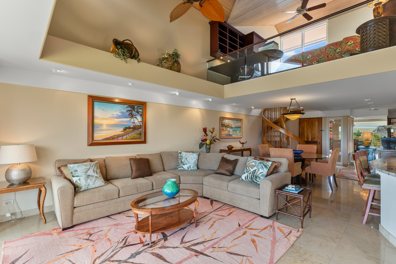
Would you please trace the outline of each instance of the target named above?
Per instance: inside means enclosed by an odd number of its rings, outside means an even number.
[[[327,176],[330,189],[333,191],[333,186],[331,185],[331,176],[333,176],[335,187],[338,187],[337,180],[335,180],[335,165],[337,165],[337,158],[340,151],[341,148],[334,149],[328,161],[323,161],[320,159],[318,161],[312,161],[311,166],[305,168],[305,179],[307,179],[308,173],[312,174],[312,182],[314,182],[314,176],[316,176],[315,174]]]

